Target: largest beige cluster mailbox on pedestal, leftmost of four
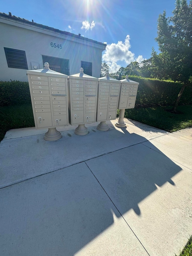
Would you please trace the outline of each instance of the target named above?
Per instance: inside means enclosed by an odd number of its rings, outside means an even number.
[[[67,75],[50,70],[47,62],[44,66],[27,71],[35,128],[49,128],[45,140],[58,140],[56,127],[69,124]]]

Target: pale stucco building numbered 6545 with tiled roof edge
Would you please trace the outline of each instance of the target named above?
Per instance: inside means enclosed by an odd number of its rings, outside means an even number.
[[[44,62],[54,71],[71,75],[101,76],[106,44],[54,29],[11,13],[0,12],[0,80],[27,81],[26,70],[41,69]]]

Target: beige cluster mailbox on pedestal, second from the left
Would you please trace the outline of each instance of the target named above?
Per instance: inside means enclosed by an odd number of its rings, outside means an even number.
[[[85,124],[96,121],[98,78],[83,73],[68,76],[69,123],[78,125],[75,134],[88,134]]]

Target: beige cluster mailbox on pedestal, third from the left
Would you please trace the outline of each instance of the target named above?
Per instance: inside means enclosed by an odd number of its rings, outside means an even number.
[[[109,72],[106,77],[99,78],[96,121],[101,121],[97,126],[100,131],[109,130],[106,121],[116,119],[120,85],[119,80],[109,77]]]

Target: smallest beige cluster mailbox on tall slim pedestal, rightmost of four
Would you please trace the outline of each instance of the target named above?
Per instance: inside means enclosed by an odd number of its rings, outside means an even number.
[[[135,107],[135,101],[136,101],[137,89],[138,89],[139,83],[130,80],[128,78],[128,75],[126,75],[125,79],[120,81],[121,81],[121,89],[120,89],[119,103],[118,103],[118,109],[120,109],[119,121],[116,122],[115,125],[117,127],[126,127],[126,124],[123,120],[125,109]]]

